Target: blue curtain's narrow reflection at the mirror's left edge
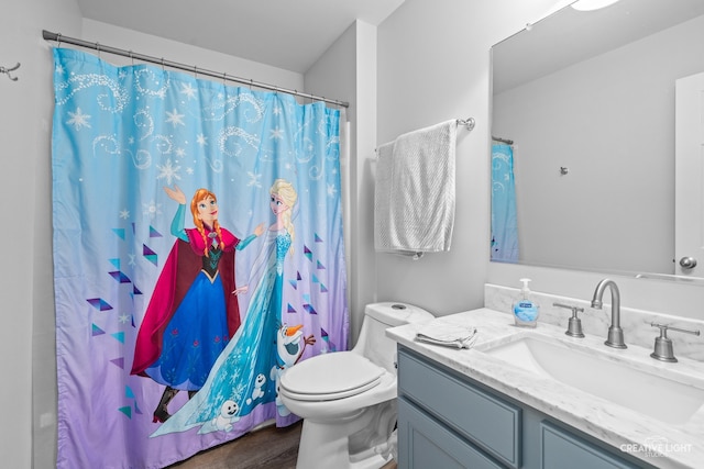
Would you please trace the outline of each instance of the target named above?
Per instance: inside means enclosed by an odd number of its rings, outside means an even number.
[[[518,261],[518,220],[514,180],[514,149],[492,144],[492,255],[491,260]]]

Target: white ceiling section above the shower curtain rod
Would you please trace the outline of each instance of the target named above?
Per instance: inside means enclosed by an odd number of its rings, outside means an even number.
[[[355,21],[404,0],[77,0],[84,18],[302,74]]]

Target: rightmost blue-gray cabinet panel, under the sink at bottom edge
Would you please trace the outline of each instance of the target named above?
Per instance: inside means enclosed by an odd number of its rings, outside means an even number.
[[[540,423],[542,469],[637,469],[550,422]]]

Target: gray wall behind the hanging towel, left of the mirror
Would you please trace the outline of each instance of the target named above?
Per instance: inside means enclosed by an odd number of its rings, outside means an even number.
[[[380,26],[377,144],[448,119],[476,120],[474,131],[458,132],[451,250],[416,261],[378,254],[380,300],[407,301],[440,315],[483,305],[490,253],[490,47],[553,3],[406,0]]]

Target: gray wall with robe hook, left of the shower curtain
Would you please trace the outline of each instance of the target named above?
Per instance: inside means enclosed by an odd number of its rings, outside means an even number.
[[[21,67],[14,72],[18,81],[0,75],[0,210],[6,214],[0,234],[6,247],[0,276],[0,375],[6,379],[0,390],[0,455],[3,467],[28,468],[32,431],[43,424],[48,433],[41,443],[52,439],[56,402],[50,197],[53,68],[42,29],[77,33],[80,16],[74,0],[7,1],[1,11],[0,65],[19,62]],[[32,369],[33,357],[42,357],[41,372]],[[43,400],[50,411],[40,422],[38,414],[32,418],[32,406]]]

